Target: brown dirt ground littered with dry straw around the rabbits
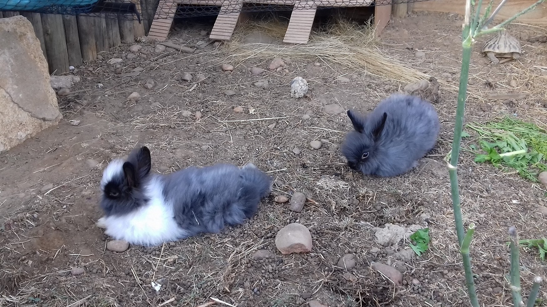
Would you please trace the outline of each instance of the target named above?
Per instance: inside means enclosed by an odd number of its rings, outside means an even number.
[[[461,23],[461,16],[451,14],[412,13],[393,19],[380,49],[457,86]],[[206,42],[203,32],[211,28],[212,23],[178,25],[170,39]],[[480,54],[484,39],[477,44],[467,121],[513,114],[547,122],[547,46],[527,41],[545,29],[509,29],[520,39],[523,55],[494,66]],[[65,119],[0,155],[0,306],[206,306],[211,297],[240,307],[306,306],[310,300],[328,306],[468,306],[444,162],[456,93],[441,87],[435,103],[442,125],[439,143],[420,166],[397,178],[362,179],[345,166],[339,151],[351,128],[344,111],[371,110],[405,84],[321,61],[290,61],[283,75],[267,69],[271,58],[225,60],[229,57],[222,45],[189,55],[170,49],[154,52],[153,43],[139,44],[135,58],[127,57],[130,45],[123,45],[80,67],[76,74],[83,81],[71,88],[72,95],[60,97]],[[424,56],[417,58],[416,51]],[[107,63],[116,57],[124,58],[120,68]],[[222,72],[221,63],[234,65],[234,72]],[[248,68],[253,66],[266,72],[251,74]],[[120,76],[132,71],[137,73]],[[184,73],[206,78],[185,82],[180,78]],[[340,75],[349,82],[336,81]],[[288,83],[295,76],[310,83],[304,98],[290,97]],[[149,79],[154,84],[147,89]],[[255,86],[259,80],[268,85]],[[511,80],[516,87],[510,86]],[[235,94],[226,96],[226,90]],[[132,92],[141,98],[127,99]],[[528,95],[491,97],[508,92]],[[329,114],[325,105],[330,104],[339,104],[342,113]],[[235,107],[243,112],[236,113]],[[79,125],[72,125],[73,120]],[[322,147],[312,149],[312,140],[321,140]],[[108,161],[136,145],[149,146],[153,169],[160,173],[250,161],[274,177],[274,191],[257,216],[241,227],[154,249],[130,246],[125,252],[110,252],[108,238],[95,226],[102,214],[101,172]],[[471,253],[481,304],[512,305],[504,281],[507,229],[515,225],[521,238],[545,237],[545,187],[476,164],[465,151],[459,178],[465,225],[477,225]],[[273,200],[293,191],[310,198],[299,214]],[[276,250],[276,232],[291,222],[310,229],[312,252],[282,255]],[[417,257],[408,240],[376,243],[377,229],[386,224],[429,227],[429,251]],[[271,255],[259,259],[253,256],[257,250]],[[347,253],[357,259],[351,275],[333,267]],[[374,262],[399,270],[403,285],[394,286],[371,269]],[[521,250],[521,264],[523,292],[528,293],[535,274],[547,278],[547,264],[537,251],[526,249]],[[72,275],[74,267],[84,273]],[[151,282],[161,284],[160,290]],[[545,302],[547,287],[540,296]]]

